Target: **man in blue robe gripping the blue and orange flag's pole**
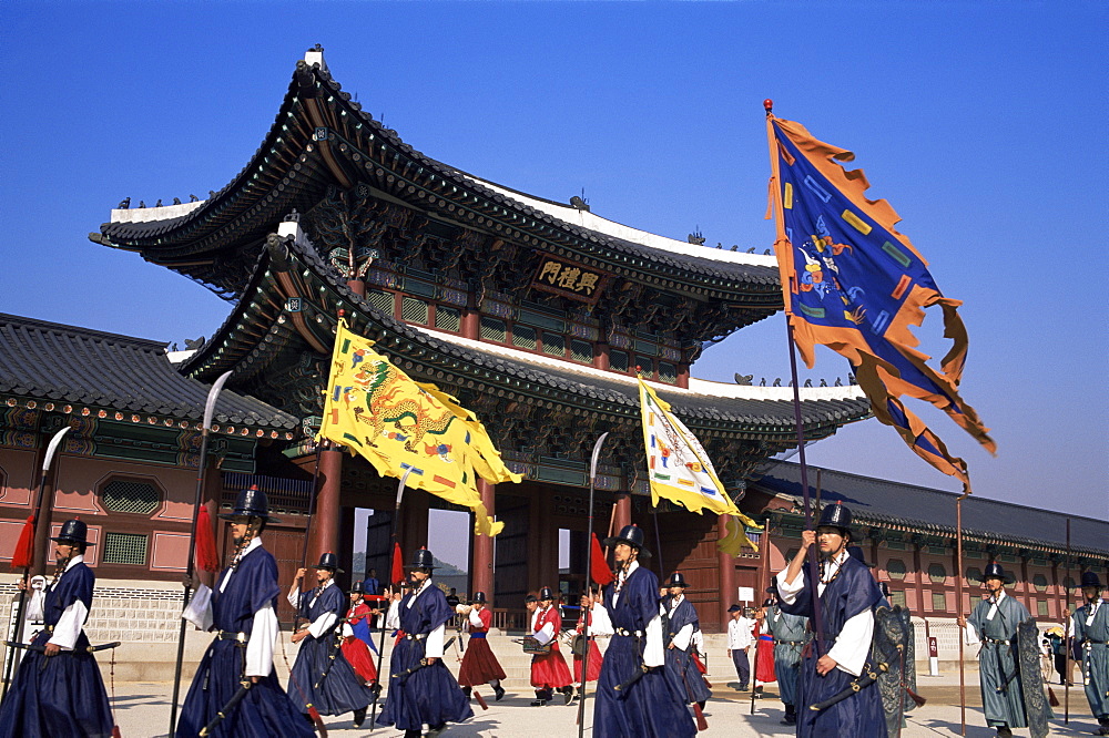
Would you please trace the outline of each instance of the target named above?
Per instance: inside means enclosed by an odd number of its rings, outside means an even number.
[[[797,736],[803,738],[887,735],[882,695],[876,684],[867,685],[874,609],[882,592],[866,565],[847,553],[852,536],[851,511],[838,503],[826,506],[816,532],[802,532],[801,551],[777,575],[782,612],[814,624],[814,583],[818,590],[823,643],[814,639],[805,648],[797,675]],[[815,571],[805,561],[814,543],[821,552]],[[810,709],[837,697],[843,698],[824,709]]]

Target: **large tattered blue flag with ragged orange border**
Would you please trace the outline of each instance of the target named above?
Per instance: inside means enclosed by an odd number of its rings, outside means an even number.
[[[967,356],[962,301],[944,297],[928,263],[895,229],[901,217],[884,199],[866,197],[862,170],[845,170],[854,154],[817,141],[800,123],[767,113],[774,171],[775,254],[794,340],[805,363],[822,344],[851,362],[874,416],[936,469],[969,491],[966,462],[902,403],[903,396],[930,402],[991,453],[996,445],[958,385]],[[952,340],[940,369],[928,366],[909,329],[925,309],[939,306]]]

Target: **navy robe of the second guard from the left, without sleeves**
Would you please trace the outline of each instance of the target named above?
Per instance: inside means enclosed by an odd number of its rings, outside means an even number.
[[[220,575],[222,582],[231,568]],[[277,612],[277,562],[273,554],[258,547],[242,557],[227,583],[220,592],[212,591],[213,629],[226,633],[245,633],[254,629],[254,614],[269,605]],[[215,718],[240,688],[246,668],[246,647],[236,640],[216,638],[204,652],[204,657],[193,677],[177,720],[177,738],[192,738]],[[315,735],[302,714],[282,689],[277,675],[258,679],[246,697],[233,709],[212,736],[224,738],[269,738],[271,736]]]

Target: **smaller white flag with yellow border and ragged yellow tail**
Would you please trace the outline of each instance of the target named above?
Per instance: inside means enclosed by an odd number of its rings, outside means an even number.
[[[647,449],[651,504],[658,505],[659,498],[663,498],[698,514],[703,514],[701,511],[709,509],[718,515],[730,515],[728,535],[718,541],[718,547],[733,556],[744,545],[757,551],[759,546],[752,543],[740,523],[754,529],[761,526],[740,512],[716,478],[716,470],[704,447],[670,412],[670,404],[642,379],[639,380],[639,403],[643,416],[643,444]]]

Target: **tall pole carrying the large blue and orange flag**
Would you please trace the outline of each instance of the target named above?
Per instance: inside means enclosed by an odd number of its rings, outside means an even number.
[[[790,239],[785,234],[785,219],[782,214],[781,172],[777,163],[777,151],[774,146],[777,143],[777,136],[774,134],[774,101],[770,99],[764,100],[763,107],[766,110],[766,144],[770,147],[771,191],[773,192],[771,203],[774,208],[774,228],[776,232],[774,250],[777,256],[779,267],[781,268],[783,258],[781,249],[788,246]],[[784,274],[782,275],[782,277],[785,276]],[[790,280],[784,278],[782,280],[782,304],[785,308],[786,339],[790,342],[790,373],[793,377],[793,420],[797,428],[797,461],[801,464],[801,489],[805,502],[805,530],[811,531],[813,530],[813,508],[808,496],[808,465],[805,463],[805,428],[801,418],[801,387],[797,379],[796,341],[793,336],[793,322],[790,321],[790,315],[792,314],[790,307],[791,291]],[[820,560],[815,546],[810,546],[808,549],[808,563],[812,566],[812,572],[820,572]],[[810,580],[808,586],[812,587],[813,625],[816,631],[816,658],[820,658],[824,653],[824,618],[821,613],[821,598],[816,583],[812,581],[812,576],[807,578]]]

